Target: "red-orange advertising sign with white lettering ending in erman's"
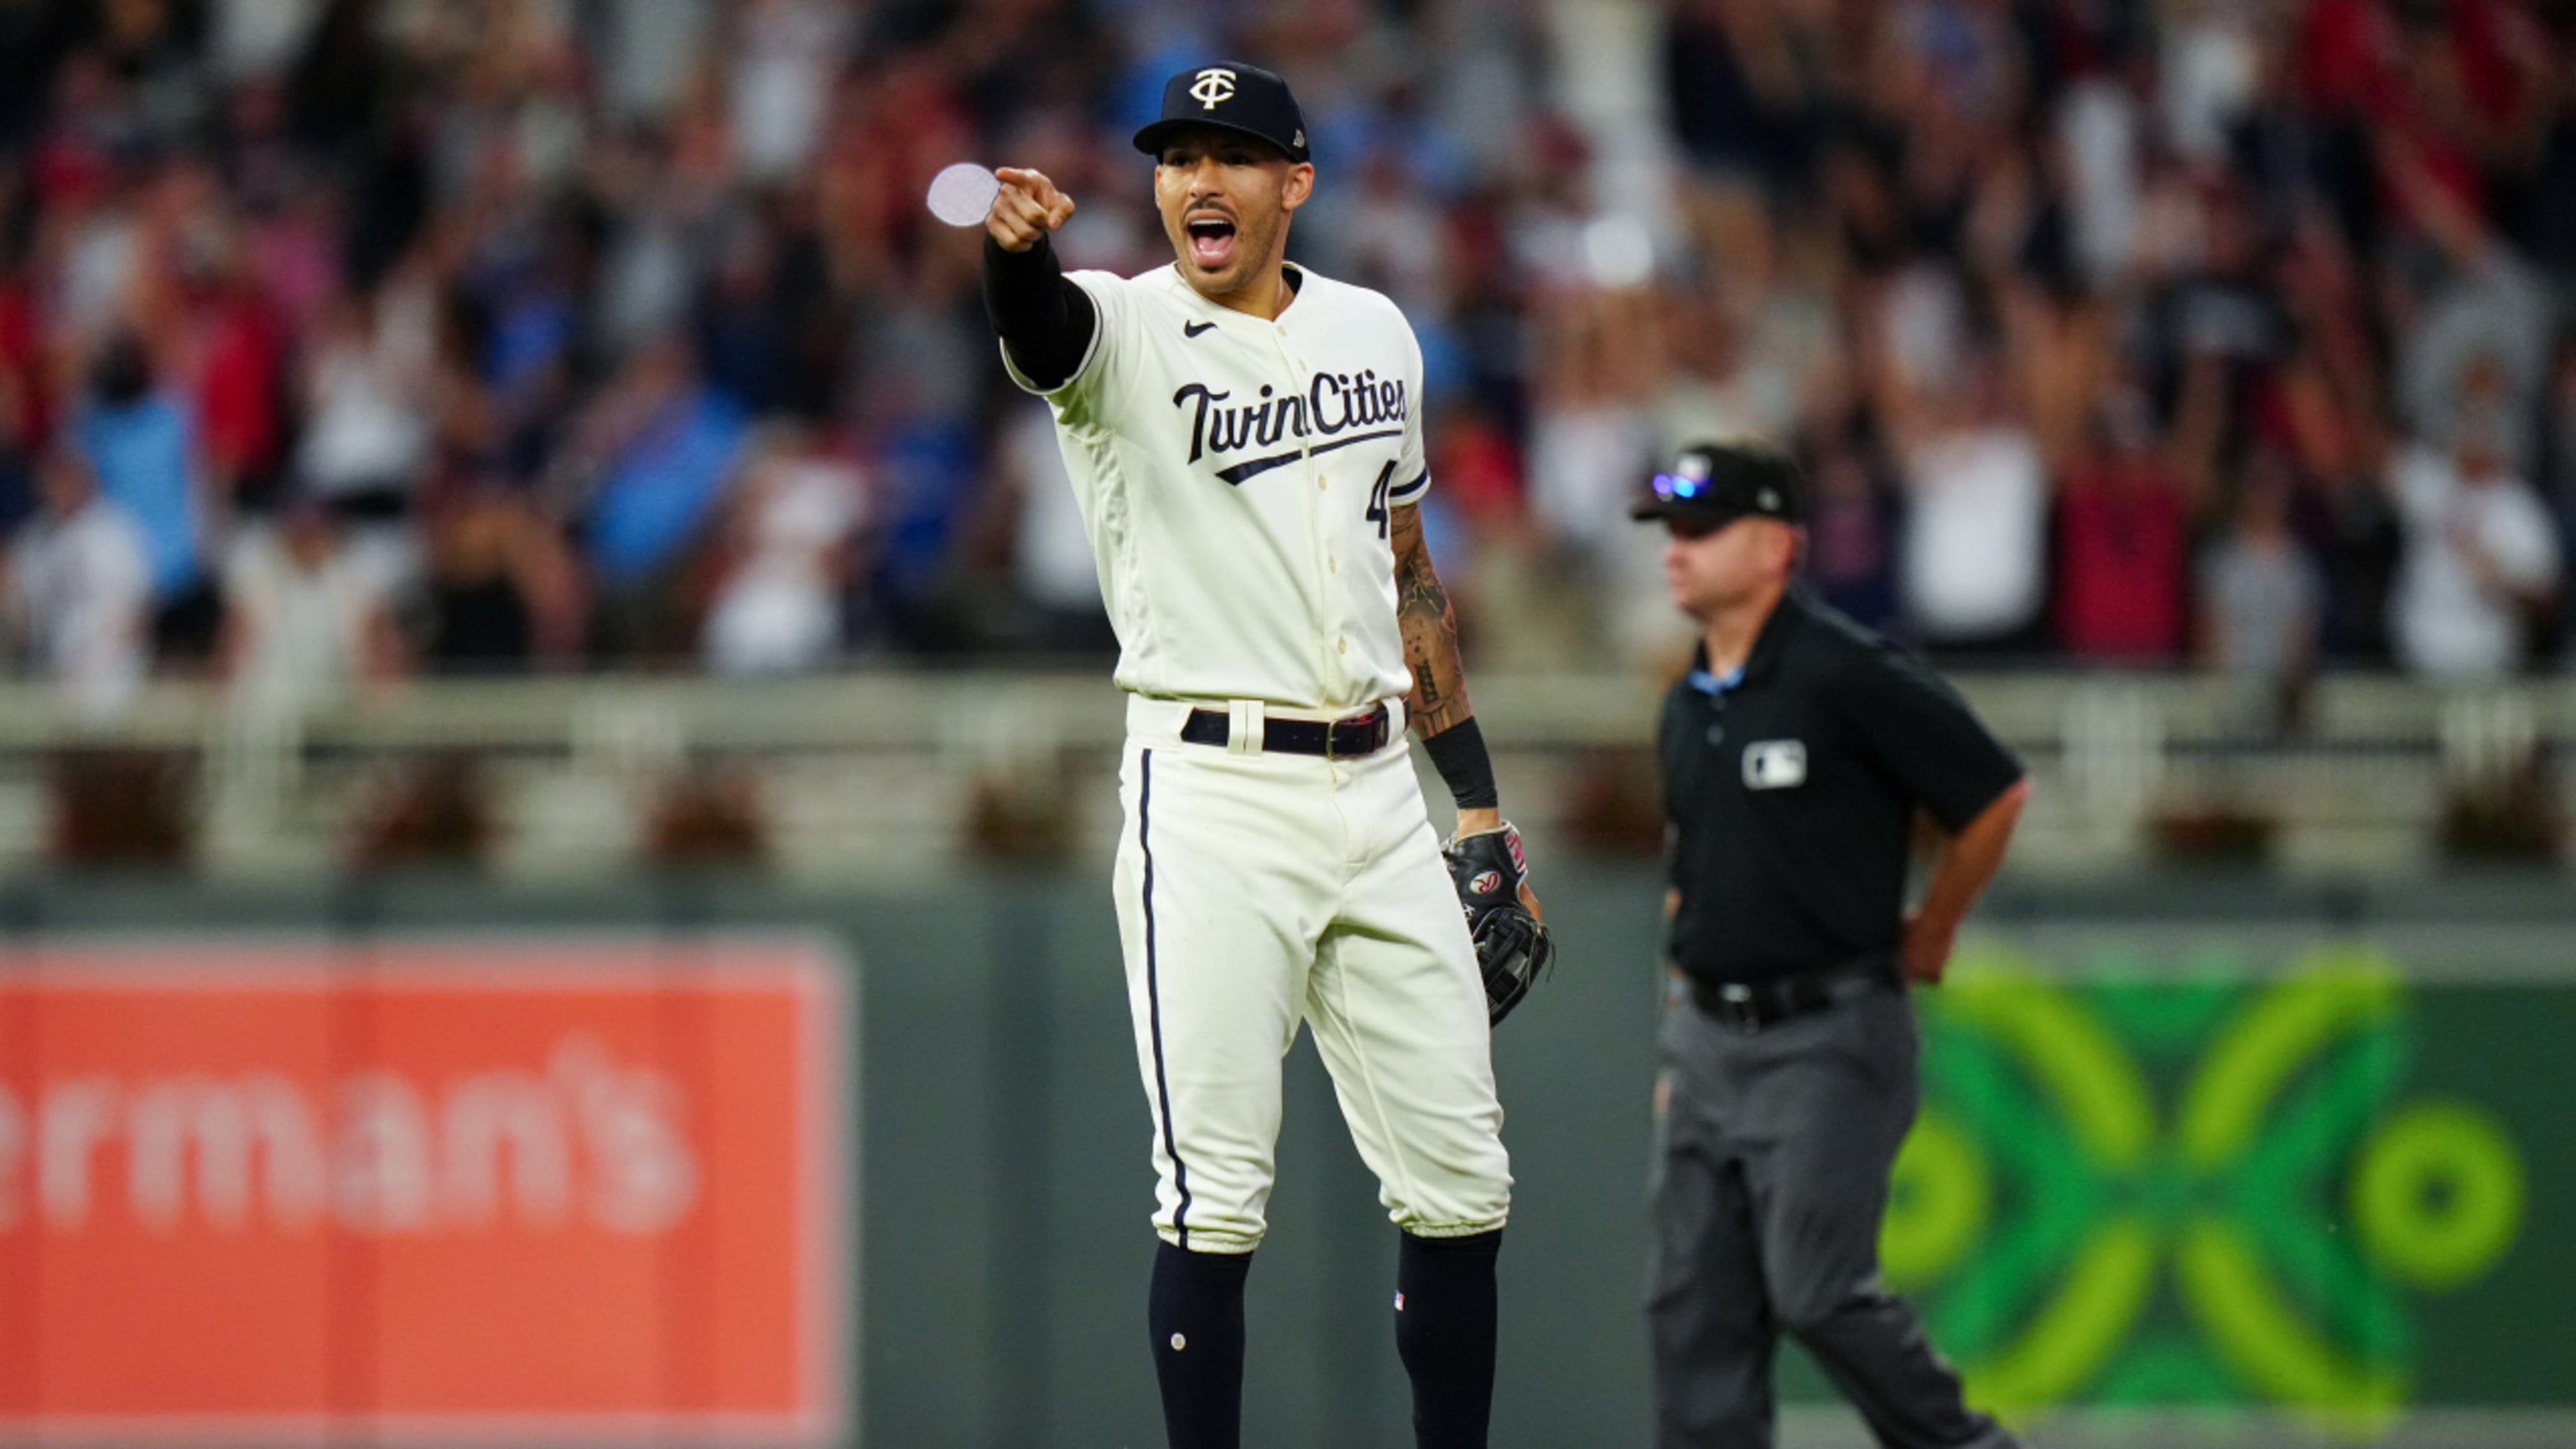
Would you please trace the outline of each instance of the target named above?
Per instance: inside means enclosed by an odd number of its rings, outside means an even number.
[[[0,957],[0,1441],[842,1434],[842,1016],[773,938]]]

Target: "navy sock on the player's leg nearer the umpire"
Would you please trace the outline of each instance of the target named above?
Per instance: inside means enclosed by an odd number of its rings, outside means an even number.
[[[1499,1253],[1499,1227],[1471,1238],[1406,1232],[1396,1253],[1396,1354],[1414,1379],[1417,1449],[1484,1449]]]

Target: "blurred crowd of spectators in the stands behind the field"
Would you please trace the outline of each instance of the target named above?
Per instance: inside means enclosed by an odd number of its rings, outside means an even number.
[[[1937,655],[2576,652],[2563,0],[0,0],[0,634],[95,712],[1100,655],[922,191],[1157,266],[1218,54],[1422,335],[1479,665],[1669,660],[1623,500],[1713,436]]]

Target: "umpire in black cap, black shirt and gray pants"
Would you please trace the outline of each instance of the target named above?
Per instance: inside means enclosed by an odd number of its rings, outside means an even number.
[[[1659,727],[1656,1444],[1767,1446],[1788,1330],[1878,1444],[2012,1446],[1878,1281],[1878,1220],[1917,1106],[1909,982],[1940,982],[2030,784],[1950,686],[1790,583],[1788,456],[1687,449],[1631,513],[1669,531],[1664,583],[1700,624]],[[1917,810],[1945,841],[1906,913]]]

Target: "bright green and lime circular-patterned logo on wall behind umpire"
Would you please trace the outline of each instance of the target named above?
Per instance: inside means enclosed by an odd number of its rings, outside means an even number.
[[[2401,1287],[2476,1281],[2522,1230],[2501,1127],[2401,1098],[2383,957],[2069,987],[1986,946],[1917,1000],[1924,1111],[1880,1256],[2007,1415],[2257,1400],[2370,1431],[2409,1400]],[[2187,1328],[2159,1328],[2166,1294]]]

